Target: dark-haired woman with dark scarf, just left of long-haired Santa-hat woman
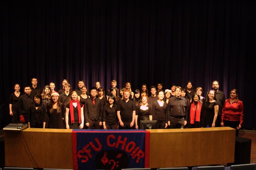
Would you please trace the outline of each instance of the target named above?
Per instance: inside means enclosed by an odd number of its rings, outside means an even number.
[[[28,110],[28,127],[45,128],[46,126],[46,106],[42,105],[42,95],[34,95],[34,104]]]

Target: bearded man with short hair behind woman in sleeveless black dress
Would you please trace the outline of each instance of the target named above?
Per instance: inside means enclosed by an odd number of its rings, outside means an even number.
[[[215,122],[215,127],[220,127],[221,117],[222,117],[222,107],[225,102],[225,94],[222,91],[219,91],[219,82],[214,80],[212,82],[212,89],[215,91],[216,102],[219,105],[218,117]],[[208,93],[206,94],[206,100],[208,100]]]

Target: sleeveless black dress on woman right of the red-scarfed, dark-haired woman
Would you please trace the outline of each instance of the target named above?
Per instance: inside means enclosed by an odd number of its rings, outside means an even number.
[[[214,106],[218,105],[217,102],[205,102],[204,104],[204,110],[205,110],[205,127],[212,127],[213,118],[214,118]],[[217,119],[215,122],[215,125],[217,125]]]

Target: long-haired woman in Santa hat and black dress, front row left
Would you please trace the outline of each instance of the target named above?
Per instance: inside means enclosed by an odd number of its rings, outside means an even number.
[[[47,114],[49,117],[48,128],[63,128],[64,111],[59,100],[59,93],[53,92],[51,94],[50,103],[47,105]]]

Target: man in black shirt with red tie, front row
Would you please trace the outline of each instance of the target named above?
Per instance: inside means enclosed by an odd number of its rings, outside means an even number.
[[[97,89],[92,87],[90,90],[91,98],[85,101],[85,125],[88,129],[100,129],[102,125],[103,104],[96,98]]]

